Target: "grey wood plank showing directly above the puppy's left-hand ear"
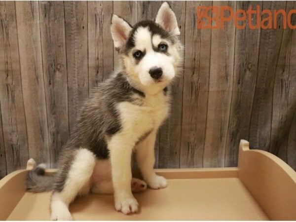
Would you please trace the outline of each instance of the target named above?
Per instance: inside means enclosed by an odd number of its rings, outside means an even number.
[[[113,1],[113,13],[122,17],[131,26],[138,22],[138,1]],[[110,30],[110,29],[109,29]],[[119,66],[118,52],[113,49],[114,69]]]

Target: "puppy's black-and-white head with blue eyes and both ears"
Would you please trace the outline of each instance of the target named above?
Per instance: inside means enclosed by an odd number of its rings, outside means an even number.
[[[141,21],[132,27],[113,15],[111,34],[122,68],[138,89],[155,94],[178,74],[182,60],[180,30],[167,2],[159,8],[155,22]]]

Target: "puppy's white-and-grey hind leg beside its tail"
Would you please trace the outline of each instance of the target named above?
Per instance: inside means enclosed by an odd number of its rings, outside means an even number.
[[[69,204],[79,194],[85,194],[90,189],[90,178],[95,166],[95,156],[88,149],[77,149],[66,156],[69,167],[62,168],[54,185],[51,196],[51,220],[70,221]],[[73,157],[73,160],[67,158]],[[65,157],[64,157],[65,158]],[[67,172],[69,170],[69,172]]]

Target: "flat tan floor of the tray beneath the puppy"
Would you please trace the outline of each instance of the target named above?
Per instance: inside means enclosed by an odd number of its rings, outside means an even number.
[[[135,195],[141,210],[116,212],[112,195],[90,194],[70,206],[74,220],[268,220],[238,178],[169,180]],[[48,220],[50,193],[27,192],[8,220]]]

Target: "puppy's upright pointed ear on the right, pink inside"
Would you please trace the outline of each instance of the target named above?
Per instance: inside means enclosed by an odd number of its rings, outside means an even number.
[[[171,9],[168,2],[165,1],[160,6],[156,15],[155,22],[169,33],[172,33],[175,36],[180,35],[176,15]]]

